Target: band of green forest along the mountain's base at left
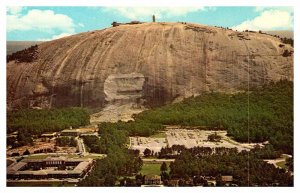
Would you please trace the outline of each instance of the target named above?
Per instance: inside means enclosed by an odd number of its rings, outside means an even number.
[[[22,109],[7,112],[7,132],[18,131],[29,135],[61,131],[90,123],[90,117],[83,108]]]

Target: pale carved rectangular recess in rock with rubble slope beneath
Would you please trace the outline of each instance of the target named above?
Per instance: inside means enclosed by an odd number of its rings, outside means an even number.
[[[106,105],[91,115],[91,123],[133,120],[132,115],[145,110],[145,77],[140,73],[111,74],[104,81]]]

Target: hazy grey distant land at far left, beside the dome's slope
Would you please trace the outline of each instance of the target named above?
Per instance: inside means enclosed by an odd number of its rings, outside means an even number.
[[[6,55],[10,55],[14,52],[24,50],[30,46],[38,45],[42,41],[7,41],[6,42]]]

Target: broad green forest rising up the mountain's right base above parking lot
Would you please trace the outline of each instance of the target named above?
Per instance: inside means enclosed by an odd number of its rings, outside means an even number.
[[[163,125],[226,129],[239,142],[269,141],[293,154],[293,82],[281,80],[237,94],[205,93],[180,103],[144,111],[134,122],[105,123],[103,128],[149,136]]]

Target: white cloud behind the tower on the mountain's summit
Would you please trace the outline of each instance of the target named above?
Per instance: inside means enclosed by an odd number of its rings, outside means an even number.
[[[106,7],[107,12],[121,15],[132,20],[151,20],[152,15],[156,18],[170,18],[184,16],[191,12],[205,10],[204,7]]]

